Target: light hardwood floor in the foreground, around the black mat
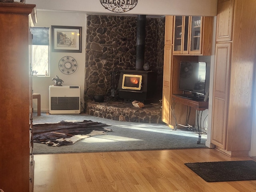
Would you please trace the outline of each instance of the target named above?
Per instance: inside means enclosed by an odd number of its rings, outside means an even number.
[[[34,192],[256,192],[256,180],[206,182],[186,162],[252,160],[215,149],[34,155]]]

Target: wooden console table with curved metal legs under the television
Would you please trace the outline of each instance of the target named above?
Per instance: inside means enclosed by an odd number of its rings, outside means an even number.
[[[172,116],[175,120],[175,128],[173,130],[177,130],[177,126],[181,125],[178,124],[176,116],[175,116],[175,105],[176,103],[181,103],[184,104],[186,106],[188,106],[188,111],[187,111],[187,118],[186,118],[186,126],[185,127],[192,127],[191,125],[188,124],[188,120],[189,120],[189,116],[190,116],[190,110],[191,107],[196,109],[196,121],[197,121],[197,125],[198,125],[198,142],[197,144],[201,143],[201,134],[202,134],[202,112],[206,109],[208,109],[208,101],[204,102],[204,101],[197,101],[197,100],[191,100],[191,99],[187,99],[187,98],[182,98],[181,96],[172,95],[172,98],[174,99],[174,102],[172,103]],[[181,125],[183,126],[183,125]]]

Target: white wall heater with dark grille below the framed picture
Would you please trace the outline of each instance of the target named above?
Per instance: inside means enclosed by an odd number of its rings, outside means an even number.
[[[49,114],[80,114],[80,86],[49,86]]]

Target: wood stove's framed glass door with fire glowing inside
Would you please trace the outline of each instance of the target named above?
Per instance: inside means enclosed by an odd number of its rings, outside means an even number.
[[[142,75],[124,74],[122,80],[122,89],[140,90],[142,84]]]

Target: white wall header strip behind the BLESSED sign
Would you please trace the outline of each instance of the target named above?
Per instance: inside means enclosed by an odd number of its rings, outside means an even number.
[[[100,0],[26,0],[37,9],[107,13]],[[217,0],[138,0],[126,14],[216,16]]]

